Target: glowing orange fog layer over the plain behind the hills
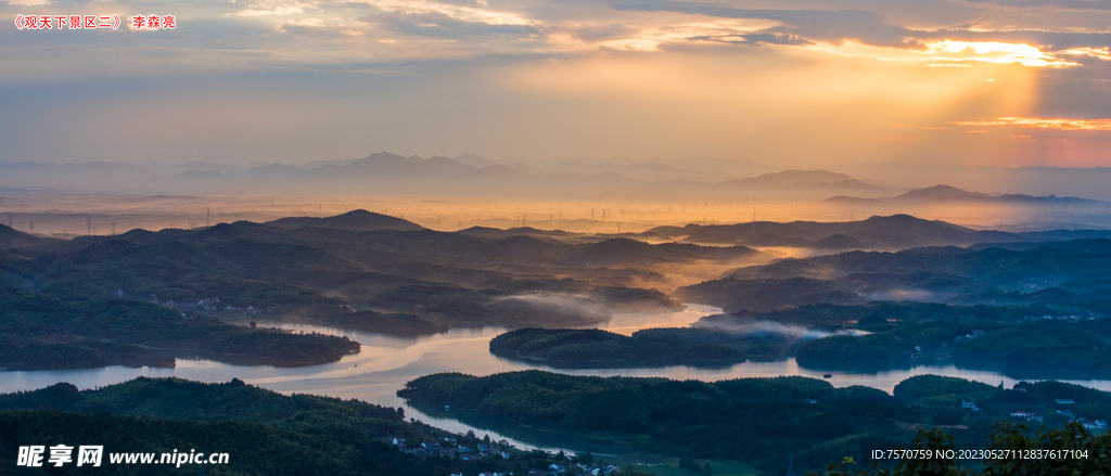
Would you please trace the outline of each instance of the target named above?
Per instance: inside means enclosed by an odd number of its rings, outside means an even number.
[[[973,229],[1037,231],[1111,227],[1105,207],[1023,205],[842,205],[814,201],[783,201],[775,196],[740,194],[737,200],[526,200],[460,196],[151,196],[66,194],[49,191],[0,190],[0,223],[16,230],[56,237],[109,235],[132,229],[190,229],[239,220],[264,222],[286,216],[333,216],[363,209],[401,217],[439,231],[473,226],[501,230],[598,233],[620,236],[657,226],[814,221],[849,222],[871,215],[908,213]],[[33,223],[33,226],[32,226]],[[702,243],[708,244],[708,243]],[[811,251],[771,250],[785,256]]]

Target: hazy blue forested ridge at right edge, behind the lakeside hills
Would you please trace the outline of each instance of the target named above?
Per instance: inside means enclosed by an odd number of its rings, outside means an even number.
[[[1082,303],[1107,298],[1109,273],[1111,240],[851,251],[737,269],[673,296],[729,312],[882,300]]]

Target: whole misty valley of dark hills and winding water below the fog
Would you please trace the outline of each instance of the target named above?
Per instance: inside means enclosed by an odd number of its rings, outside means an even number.
[[[352,452],[329,465],[383,475],[527,473],[568,464],[557,452],[588,472],[779,475],[944,442],[922,428],[1003,445],[1003,421],[1032,447],[1039,428],[1107,444],[1103,230],[897,214],[443,232],[354,210],[72,239],[0,225],[0,408],[40,412],[0,428],[258,433],[318,464],[337,457],[303,438],[323,432]],[[223,413],[181,406],[199,395]],[[504,457],[463,458],[483,435]],[[446,437],[471,446],[396,442]],[[918,474],[889,463],[874,470]]]

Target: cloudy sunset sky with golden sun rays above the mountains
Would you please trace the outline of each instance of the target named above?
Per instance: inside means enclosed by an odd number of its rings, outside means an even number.
[[[1111,166],[1111,0],[20,0],[0,14],[7,162]],[[17,21],[72,14],[122,24]],[[152,14],[177,27],[132,24]]]

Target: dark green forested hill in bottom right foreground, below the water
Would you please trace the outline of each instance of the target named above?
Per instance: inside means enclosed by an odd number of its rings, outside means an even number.
[[[790,457],[795,469],[817,470],[845,456],[860,460],[867,448],[907,447],[917,429],[931,426],[960,425],[959,448],[987,447],[995,424],[1015,411],[1045,415],[1048,428],[1063,425],[1068,417],[1055,398],[1074,399],[1080,417],[1111,416],[1111,393],[1058,382],[1003,388],[927,375],[903,381],[895,392],[898,397],[863,386],[835,388],[807,377],[704,383],[523,371],[428,375],[398,395],[430,411],[450,405],[464,421],[629,442],[642,453],[741,460],[768,475],[785,474]],[[962,408],[963,401],[979,409]]]

